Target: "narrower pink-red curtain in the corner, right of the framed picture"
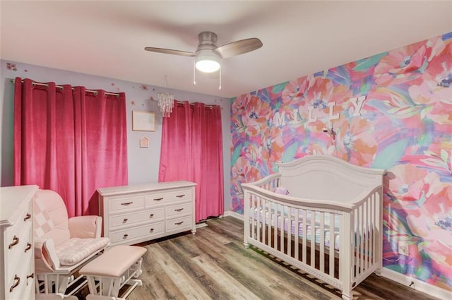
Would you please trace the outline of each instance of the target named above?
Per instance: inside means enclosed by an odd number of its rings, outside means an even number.
[[[163,119],[159,181],[196,185],[196,222],[224,213],[222,126],[218,105],[176,102]]]

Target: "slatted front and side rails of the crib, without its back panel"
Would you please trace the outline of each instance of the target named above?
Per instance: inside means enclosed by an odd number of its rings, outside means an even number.
[[[244,245],[261,248],[352,299],[352,289],[381,269],[381,186],[347,208],[276,194],[278,177],[242,185]]]

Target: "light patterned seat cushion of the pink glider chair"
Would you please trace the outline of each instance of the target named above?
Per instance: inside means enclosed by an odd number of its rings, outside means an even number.
[[[105,248],[109,239],[101,237],[98,239],[73,238],[56,247],[57,256],[61,265],[75,265],[96,251]]]

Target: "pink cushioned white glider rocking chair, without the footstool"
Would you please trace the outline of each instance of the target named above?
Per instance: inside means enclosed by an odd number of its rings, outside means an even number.
[[[58,193],[37,191],[33,198],[36,299],[74,299],[87,280],[78,270],[109,245],[100,237],[102,217],[68,217]]]

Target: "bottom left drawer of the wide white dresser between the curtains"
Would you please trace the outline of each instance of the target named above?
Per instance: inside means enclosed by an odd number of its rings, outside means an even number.
[[[157,234],[165,232],[164,222],[157,222],[129,229],[118,230],[109,233],[109,238],[115,244],[129,244],[134,239],[146,237],[152,239]],[[132,243],[133,244],[133,243]]]

